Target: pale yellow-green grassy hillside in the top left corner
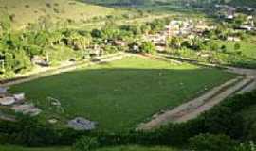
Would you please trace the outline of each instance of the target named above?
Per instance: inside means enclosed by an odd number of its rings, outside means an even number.
[[[15,27],[35,23],[46,17],[53,22],[84,22],[95,16],[106,16],[113,8],[70,0],[0,0],[0,20],[9,17]]]

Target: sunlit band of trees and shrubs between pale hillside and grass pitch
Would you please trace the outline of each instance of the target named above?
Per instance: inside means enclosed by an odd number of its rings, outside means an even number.
[[[161,22],[162,23],[162,22]],[[155,26],[156,25],[156,26]],[[1,75],[12,76],[33,67],[33,59],[39,58],[41,64],[56,65],[64,60],[85,59],[90,53],[129,51],[128,46],[140,41],[140,36],[148,30],[158,30],[158,21],[148,25],[113,25],[109,21],[101,30],[91,32],[82,29],[57,28],[48,20],[30,25],[24,31],[11,31],[9,19],[2,22],[0,32]],[[118,45],[117,41],[124,45]]]

